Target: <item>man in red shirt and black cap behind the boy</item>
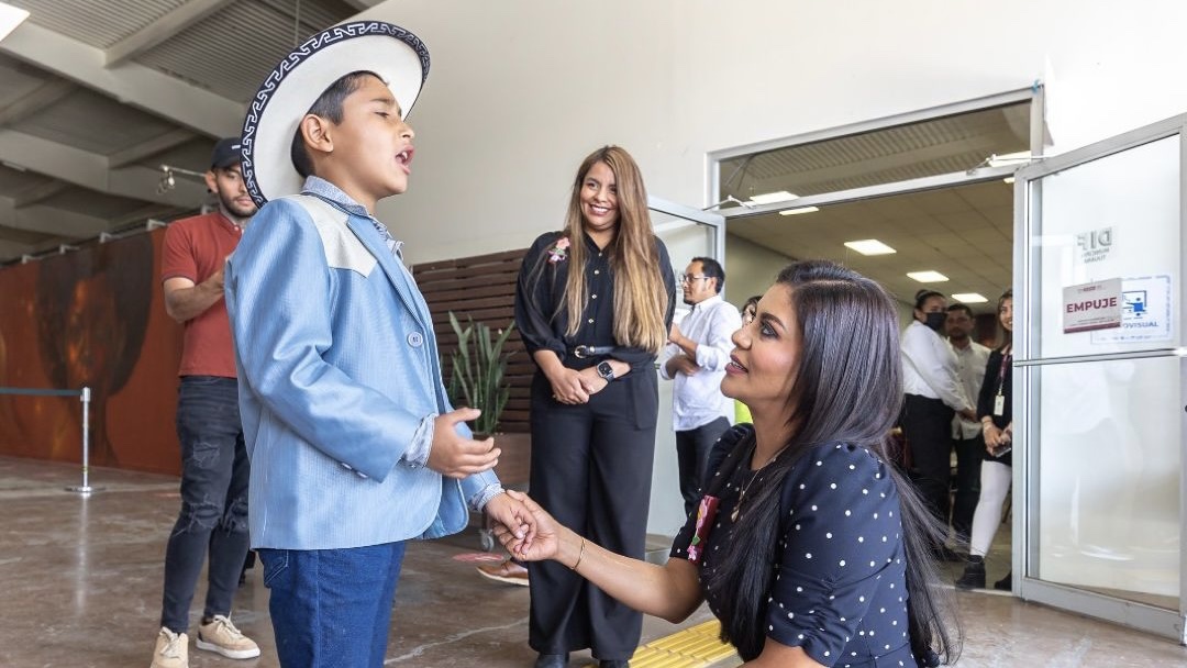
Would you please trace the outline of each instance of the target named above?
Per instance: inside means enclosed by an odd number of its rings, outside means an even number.
[[[230,604],[249,545],[248,459],[239,419],[239,383],[223,303],[223,266],[255,214],[240,172],[237,139],[215,145],[207,187],[218,210],[165,231],[165,311],[185,325],[177,401],[182,511],[165,551],[165,592],[152,668],[188,668],[190,603],[209,553],[198,649],[252,659],[260,648],[230,623]]]

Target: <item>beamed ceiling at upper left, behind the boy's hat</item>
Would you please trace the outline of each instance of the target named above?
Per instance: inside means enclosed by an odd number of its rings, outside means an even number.
[[[300,39],[380,0],[5,0],[0,263],[197,211],[198,179]]]

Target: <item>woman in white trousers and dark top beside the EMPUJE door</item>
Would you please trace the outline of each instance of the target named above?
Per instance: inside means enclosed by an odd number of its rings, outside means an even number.
[[[1005,291],[997,300],[997,318],[1005,330],[1005,345],[989,354],[985,381],[977,400],[977,416],[985,434],[985,458],[980,463],[980,497],[972,515],[972,535],[969,537],[969,564],[956,581],[959,590],[985,587],[985,554],[1002,523],[1002,507],[1014,479],[1013,290]],[[994,589],[1009,591],[1013,585],[1013,578],[1007,573],[994,583]]]

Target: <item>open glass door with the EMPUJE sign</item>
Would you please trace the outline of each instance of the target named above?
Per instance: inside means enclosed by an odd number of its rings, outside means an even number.
[[[1016,593],[1179,642],[1185,122],[1015,190]]]

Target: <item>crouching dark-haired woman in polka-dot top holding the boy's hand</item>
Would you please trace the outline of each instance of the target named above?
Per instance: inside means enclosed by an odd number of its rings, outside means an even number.
[[[754,425],[722,437],[698,516],[665,566],[607,552],[522,495],[537,536],[499,528],[500,540],[672,622],[707,600],[747,666],[954,660],[941,592],[928,586],[942,528],[884,452],[902,403],[887,293],[831,262],[799,262],[734,343],[722,392]]]

